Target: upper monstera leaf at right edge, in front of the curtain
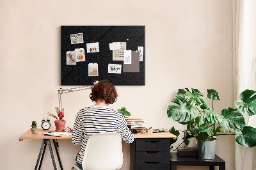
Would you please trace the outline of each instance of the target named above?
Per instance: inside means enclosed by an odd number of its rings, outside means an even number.
[[[244,109],[248,112],[249,116],[255,115],[256,114],[256,91],[254,90],[249,90],[246,89],[244,90],[240,97],[243,102],[236,102],[236,107],[241,112],[244,114]]]

